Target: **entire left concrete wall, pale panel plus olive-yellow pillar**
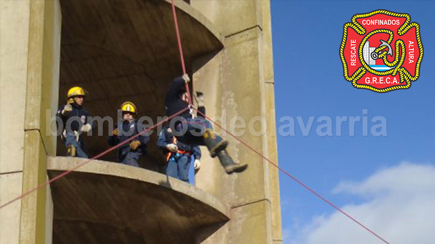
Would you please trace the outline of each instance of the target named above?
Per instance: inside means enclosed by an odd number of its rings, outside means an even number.
[[[47,180],[47,155],[56,138],[46,133],[54,115],[60,59],[58,1],[0,1],[0,202]],[[2,243],[51,243],[53,204],[41,188],[1,210]]]

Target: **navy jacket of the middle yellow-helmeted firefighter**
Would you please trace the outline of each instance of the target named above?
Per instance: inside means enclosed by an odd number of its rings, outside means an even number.
[[[115,129],[118,129],[118,126],[115,126]],[[120,129],[118,129],[118,135],[117,136],[116,135],[109,136],[107,138],[107,141],[108,141],[109,145],[114,146],[114,145],[117,145],[119,143],[122,143],[122,142],[128,140],[129,138],[132,138],[133,136],[135,136],[137,134],[139,134],[138,122],[136,120],[132,120],[130,122],[125,120],[122,123],[122,131]],[[127,153],[130,150],[129,145],[134,140],[138,140],[141,143],[139,148],[137,148],[136,150],[140,154],[146,153],[146,143],[149,140],[149,136],[142,134],[142,135],[136,137],[135,139],[121,145],[121,147],[118,148],[119,156]]]

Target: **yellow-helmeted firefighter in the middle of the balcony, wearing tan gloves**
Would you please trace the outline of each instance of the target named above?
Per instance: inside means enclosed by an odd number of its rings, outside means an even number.
[[[115,127],[113,135],[108,137],[108,143],[112,146],[122,143],[140,133],[137,116],[137,107],[132,102],[125,102],[121,105],[122,121]],[[130,142],[118,148],[118,162],[139,167],[139,157],[146,153],[146,143],[149,136],[140,135]]]

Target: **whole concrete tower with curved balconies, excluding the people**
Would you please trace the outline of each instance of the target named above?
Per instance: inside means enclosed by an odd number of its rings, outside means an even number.
[[[204,92],[207,115],[251,121],[258,133],[240,139],[277,162],[269,5],[176,1],[191,89]],[[71,86],[89,91],[95,116],[116,118],[125,100],[155,122],[165,115],[165,91],[182,74],[169,1],[4,0],[0,11],[0,204],[85,161],[63,157],[50,133]],[[98,126],[106,135],[108,124]],[[249,163],[243,174],[226,175],[204,149],[196,186],[167,178],[156,172],[153,133],[146,169],[110,162],[113,152],[2,208],[0,242],[281,243],[276,168],[224,137]],[[96,132],[85,141],[91,156],[107,148]]]

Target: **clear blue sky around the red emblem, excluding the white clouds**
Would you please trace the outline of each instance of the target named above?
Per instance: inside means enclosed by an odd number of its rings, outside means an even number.
[[[407,90],[381,94],[356,89],[343,78],[342,27],[354,14],[377,9],[408,13],[420,24],[421,76]],[[295,136],[277,137],[281,167],[343,206],[365,199],[333,193],[340,182],[364,181],[404,161],[435,165],[433,10],[433,1],[271,1],[277,126],[285,124],[278,122],[282,116],[295,120]],[[297,116],[304,123],[315,116],[309,136],[302,135]],[[334,136],[316,134],[320,116],[332,117]],[[335,136],[336,116],[367,116],[368,136],[362,136],[361,122],[356,123],[355,136],[347,132],[349,123],[343,123],[342,136]],[[386,118],[387,136],[371,135],[375,116]],[[292,237],[314,216],[335,212],[284,174],[280,192],[282,229],[289,236],[285,243],[296,243]]]

